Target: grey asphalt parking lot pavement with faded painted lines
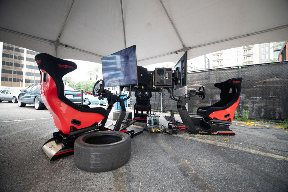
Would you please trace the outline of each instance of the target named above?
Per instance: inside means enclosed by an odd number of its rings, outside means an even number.
[[[0,191],[288,191],[288,131],[231,128],[235,136],[144,131],[132,138],[127,164],[92,173],[78,169],[73,155],[49,161],[41,146],[58,130],[47,109],[3,101]]]

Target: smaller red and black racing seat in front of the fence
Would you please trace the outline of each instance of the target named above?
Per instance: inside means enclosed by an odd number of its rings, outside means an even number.
[[[214,86],[221,90],[220,100],[211,106],[199,107],[197,115],[203,116],[204,119],[212,119],[213,122],[231,124],[240,100],[241,82],[242,77],[236,77],[215,83]]]

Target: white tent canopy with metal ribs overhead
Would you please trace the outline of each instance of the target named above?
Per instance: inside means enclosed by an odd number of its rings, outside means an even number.
[[[287,39],[287,0],[0,1],[0,41],[63,59],[136,45],[144,66]]]

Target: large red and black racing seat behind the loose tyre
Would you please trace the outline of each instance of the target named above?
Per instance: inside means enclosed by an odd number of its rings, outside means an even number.
[[[46,53],[36,55],[35,60],[41,72],[40,95],[58,130],[70,135],[81,133],[98,126],[102,119],[107,119],[104,108],[77,105],[64,96],[62,77],[77,68],[74,62]]]

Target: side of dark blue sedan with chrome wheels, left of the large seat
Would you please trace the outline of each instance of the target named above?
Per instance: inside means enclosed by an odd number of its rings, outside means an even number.
[[[18,106],[25,107],[26,104],[34,104],[35,109],[44,109],[45,105],[40,96],[40,83],[30,85],[25,90],[20,90],[21,93],[18,96]]]

